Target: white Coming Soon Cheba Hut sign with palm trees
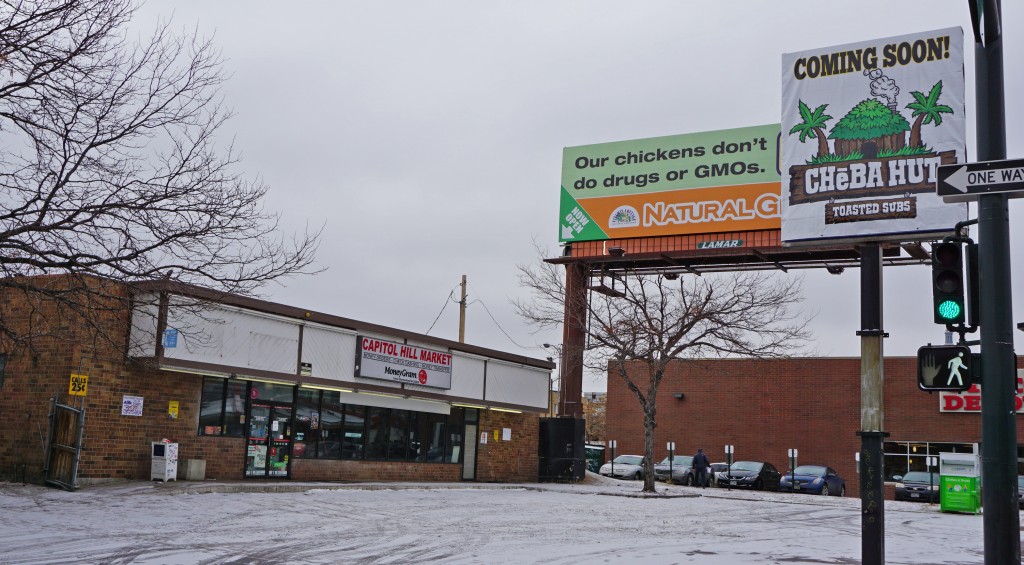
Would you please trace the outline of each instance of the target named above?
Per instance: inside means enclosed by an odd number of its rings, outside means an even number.
[[[959,28],[782,55],[782,241],[951,231],[935,182],[966,125]]]

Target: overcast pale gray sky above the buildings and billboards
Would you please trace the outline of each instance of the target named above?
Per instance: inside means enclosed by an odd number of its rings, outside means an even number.
[[[1016,159],[1024,6],[1002,10]],[[326,225],[328,270],[268,287],[265,298],[425,333],[466,274],[467,342],[532,357],[548,356],[540,344],[560,333],[534,334],[509,299],[522,292],[516,265],[537,259],[535,240],[558,252],[565,146],[777,123],[782,53],[959,26],[976,160],[968,0],[151,0],[136,25],[167,17],[222,49],[237,112],[224,133],[246,174],[271,186],[267,208],[291,230]],[[1024,200],[1011,201],[1011,233],[1017,323]],[[817,311],[809,347],[859,355],[857,269],[801,274]],[[942,342],[930,276],[924,266],[886,269],[887,354]],[[430,334],[458,339],[455,302]],[[1024,333],[1015,340],[1024,351]],[[584,389],[604,383],[588,377]]]

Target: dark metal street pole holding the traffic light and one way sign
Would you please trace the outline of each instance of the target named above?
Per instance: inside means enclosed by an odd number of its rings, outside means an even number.
[[[1001,5],[971,0],[975,9],[975,91],[979,161],[1007,158],[1002,86]],[[978,37],[980,32],[981,37]],[[978,199],[981,291],[981,480],[986,565],[1020,563],[1017,509],[1017,416],[1010,287],[1007,194]]]

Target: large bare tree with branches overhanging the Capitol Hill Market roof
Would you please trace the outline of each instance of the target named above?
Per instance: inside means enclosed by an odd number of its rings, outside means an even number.
[[[254,294],[310,272],[319,230],[280,235],[267,187],[216,140],[230,112],[213,44],[166,23],[129,40],[134,11],[131,0],[0,0],[0,291],[81,313],[100,294],[124,299],[89,275]],[[40,274],[62,276],[26,278]],[[47,333],[8,317],[4,350]]]

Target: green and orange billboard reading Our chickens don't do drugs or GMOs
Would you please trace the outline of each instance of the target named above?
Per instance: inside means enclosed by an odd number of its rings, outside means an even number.
[[[779,227],[779,125],[565,147],[560,242]]]

